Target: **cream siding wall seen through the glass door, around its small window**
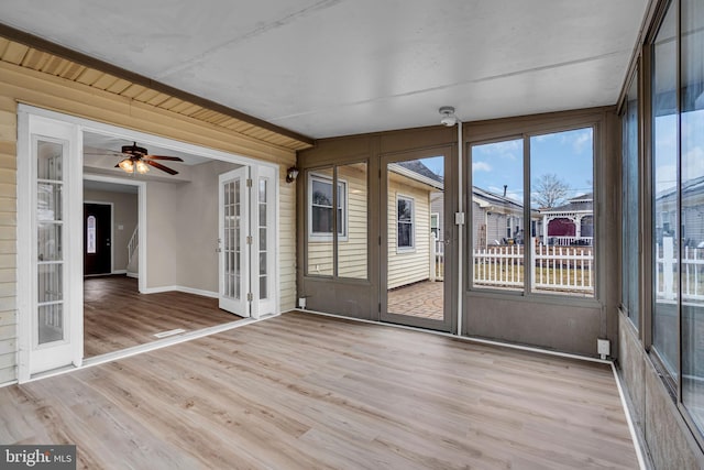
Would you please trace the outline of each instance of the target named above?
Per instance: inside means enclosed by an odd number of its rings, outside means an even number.
[[[397,250],[396,200],[398,196],[414,199],[414,248]],[[388,186],[388,288],[400,287],[430,275],[430,193],[409,178],[391,174]]]

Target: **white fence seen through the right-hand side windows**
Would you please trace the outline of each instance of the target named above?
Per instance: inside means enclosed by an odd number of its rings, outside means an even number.
[[[659,299],[678,298],[679,262],[672,237],[656,244],[656,295]],[[682,299],[704,300],[704,249],[684,247],[682,250]]]

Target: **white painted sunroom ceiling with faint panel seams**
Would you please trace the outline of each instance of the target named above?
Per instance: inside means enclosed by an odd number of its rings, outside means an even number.
[[[312,138],[614,105],[647,0],[2,0],[0,22]]]

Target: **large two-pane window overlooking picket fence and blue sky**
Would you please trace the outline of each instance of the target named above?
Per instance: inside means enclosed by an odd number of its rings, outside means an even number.
[[[471,159],[472,286],[594,297],[594,129],[476,143]]]

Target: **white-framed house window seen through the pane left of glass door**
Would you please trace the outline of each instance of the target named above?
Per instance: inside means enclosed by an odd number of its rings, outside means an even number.
[[[332,240],[332,178],[311,174],[309,177],[310,194],[310,236],[311,239]],[[338,181],[338,237],[346,236],[346,182]]]

